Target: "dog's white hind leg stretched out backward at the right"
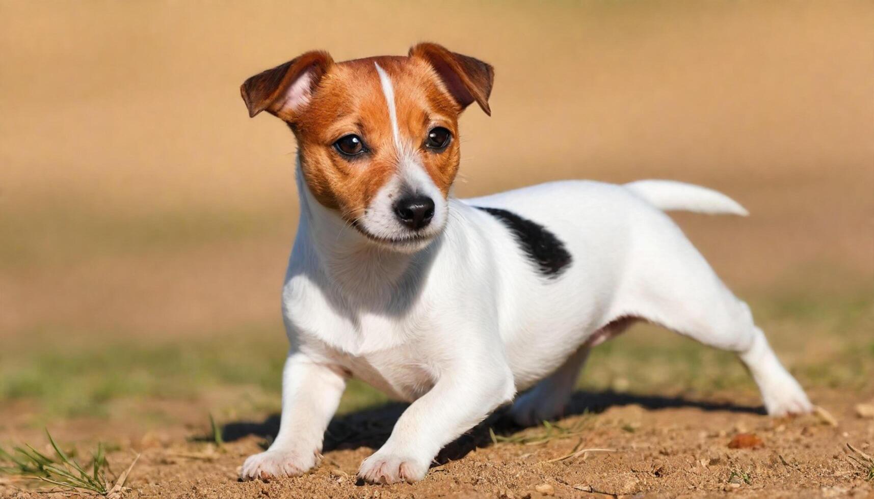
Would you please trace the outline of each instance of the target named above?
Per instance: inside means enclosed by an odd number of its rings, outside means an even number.
[[[676,232],[680,232],[673,228]],[[725,287],[704,257],[683,237],[662,227],[642,252],[633,275],[630,312],[722,350],[736,352],[773,416],[810,412],[798,382],[780,364],[746,303]],[[655,242],[655,245],[652,244]]]

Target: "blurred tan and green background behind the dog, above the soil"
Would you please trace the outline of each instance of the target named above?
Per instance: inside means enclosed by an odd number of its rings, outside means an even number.
[[[723,191],[751,217],[679,214],[690,239],[804,384],[871,387],[870,1],[3,0],[0,438],[276,410],[295,143],[247,117],[239,85],[311,49],[422,40],[496,67],[493,115],[461,118],[459,196],[561,178]],[[731,356],[646,327],[581,383],[756,400]],[[380,400],[352,385],[343,410]]]

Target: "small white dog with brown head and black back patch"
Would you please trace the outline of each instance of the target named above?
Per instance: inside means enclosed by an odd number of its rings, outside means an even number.
[[[662,180],[454,198],[458,117],[473,103],[491,114],[493,80],[489,64],[421,43],[339,63],[307,52],[240,88],[250,116],[294,132],[301,207],[281,427],[241,479],[316,467],[357,377],[411,402],[358,476],[421,480],[500,405],[522,425],[560,416],[589,350],[637,320],[736,352],[769,414],[811,410],[750,309],[664,214],[746,215],[732,199]]]

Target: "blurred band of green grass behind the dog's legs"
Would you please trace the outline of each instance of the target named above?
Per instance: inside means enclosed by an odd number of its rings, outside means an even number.
[[[779,296],[753,301],[758,322],[775,350],[809,386],[864,389],[874,379],[874,294],[822,300]],[[130,399],[198,399],[239,388],[251,412],[277,411],[287,343],[274,327],[249,326],[183,340],[121,339],[46,330],[4,345],[0,405],[25,400],[40,414],[107,416]],[[115,337],[97,340],[97,337]],[[816,345],[827,341],[829,349]],[[815,347],[815,348],[814,348]],[[810,351],[814,351],[812,355]],[[825,350],[825,351],[820,351]],[[642,325],[600,345],[580,387],[642,393],[754,391],[735,356],[669,331]],[[237,398],[239,399],[239,397]],[[350,412],[385,402],[385,395],[352,380],[341,403]],[[205,410],[220,411],[221,407]],[[160,412],[160,411],[158,411]],[[139,418],[160,417],[138,413]],[[45,420],[34,421],[43,424]]]

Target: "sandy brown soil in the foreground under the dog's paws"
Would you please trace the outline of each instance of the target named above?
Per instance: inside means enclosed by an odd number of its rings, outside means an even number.
[[[874,394],[868,395],[859,400]],[[493,416],[447,447],[425,480],[414,484],[364,485],[355,477],[360,461],[387,437],[400,405],[336,419],[322,465],[302,477],[268,483],[235,478],[246,455],[259,452],[264,436],[275,431],[275,417],[225,426],[223,447],[198,441],[203,428],[187,435],[147,433],[111,454],[110,463],[121,470],[134,452],[142,453],[128,481],[132,498],[874,496],[874,482],[865,482],[845,447],[850,443],[874,454],[874,446],[864,443],[874,440],[874,419],[857,416],[857,399],[836,392],[813,397],[836,426],[815,415],[769,418],[750,393],[724,392],[708,400],[578,393],[575,415],[559,420],[551,437],[543,427],[519,431]],[[489,427],[495,428],[497,444]],[[82,426],[62,431],[71,430],[87,433]],[[739,434],[753,434],[760,442],[732,448]],[[589,448],[610,452],[579,453]],[[575,449],[579,455],[556,461]],[[0,485],[0,494],[52,497],[23,487]]]

